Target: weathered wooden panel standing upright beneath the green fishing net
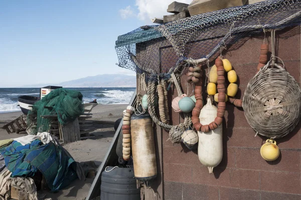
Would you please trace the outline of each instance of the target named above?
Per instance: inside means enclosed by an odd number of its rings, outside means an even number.
[[[77,118],[64,126],[61,126],[61,130],[64,144],[80,140],[80,130]]]

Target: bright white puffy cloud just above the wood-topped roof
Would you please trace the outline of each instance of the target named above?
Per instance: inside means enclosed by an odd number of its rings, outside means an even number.
[[[140,20],[150,21],[150,18],[163,18],[163,15],[168,15],[166,10],[168,5],[175,0],[136,0],[138,9],[137,17]],[[193,0],[178,0],[178,2],[190,4]]]

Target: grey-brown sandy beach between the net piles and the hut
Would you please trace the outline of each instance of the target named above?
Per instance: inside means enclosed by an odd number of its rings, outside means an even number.
[[[101,164],[115,133],[112,122],[115,122],[121,117],[122,111],[126,109],[126,106],[127,104],[98,104],[93,108],[91,111],[91,120],[110,121],[111,123],[98,123],[97,129],[92,132],[95,137],[91,139],[76,141],[64,145],[64,148],[73,156],[75,161],[82,162],[93,160],[96,165]],[[21,111],[0,113],[0,127],[19,117],[21,114]],[[5,129],[0,128],[0,140],[17,138],[20,136],[24,136],[24,134],[8,134]],[[43,198],[85,199],[92,182],[93,178],[86,178],[86,180],[82,181],[77,179],[67,186],[67,188],[58,192],[54,193],[42,190],[38,193]]]

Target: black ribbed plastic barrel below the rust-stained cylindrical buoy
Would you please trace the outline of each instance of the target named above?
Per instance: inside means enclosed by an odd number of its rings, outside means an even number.
[[[140,200],[134,169],[108,166],[101,175],[101,200]]]

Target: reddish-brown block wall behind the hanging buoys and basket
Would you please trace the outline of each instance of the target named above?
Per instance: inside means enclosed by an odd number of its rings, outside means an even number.
[[[276,31],[276,55],[298,83],[301,82],[299,29],[297,26]],[[270,41],[270,37],[267,39]],[[262,41],[263,35],[254,35],[238,49],[225,54],[239,76],[241,99],[248,81],[256,73]],[[162,63],[167,61],[162,60]],[[193,88],[186,83],[185,75],[181,84],[184,92],[191,94]],[[176,89],[170,95],[169,99],[176,97]],[[171,116],[174,125],[183,121],[183,116],[173,110]],[[168,140],[168,133],[163,131],[164,199],[301,199],[301,124],[289,135],[276,140],[281,155],[272,162],[260,156],[260,147],[266,138],[254,135],[243,110],[227,103],[223,120],[223,160],[214,168],[214,173],[209,174],[207,167],[200,163],[196,150],[173,144]]]

